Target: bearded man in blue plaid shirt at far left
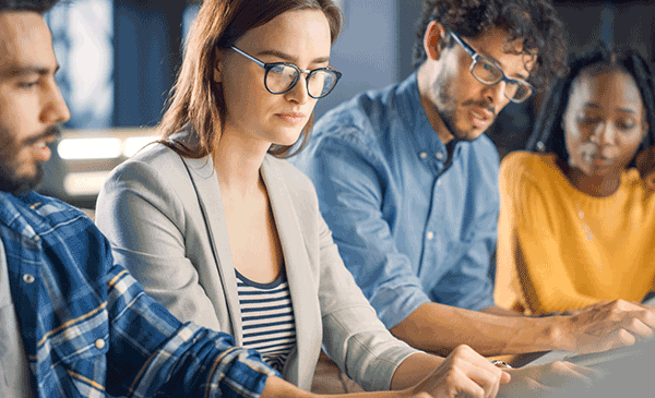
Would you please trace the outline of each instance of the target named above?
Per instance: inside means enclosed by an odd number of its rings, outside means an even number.
[[[92,220],[32,192],[70,117],[41,17],[55,2],[0,0],[0,396],[259,396],[278,373],[255,351],[182,325]]]

